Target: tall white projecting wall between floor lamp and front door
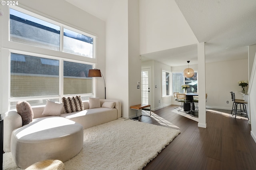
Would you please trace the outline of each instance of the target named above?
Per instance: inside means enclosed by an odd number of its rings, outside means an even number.
[[[122,116],[141,103],[141,63],[138,40],[138,0],[118,0],[106,21],[107,98],[122,101]]]

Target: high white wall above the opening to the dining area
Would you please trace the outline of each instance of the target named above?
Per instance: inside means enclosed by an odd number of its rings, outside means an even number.
[[[139,2],[140,54],[198,43],[174,0]]]

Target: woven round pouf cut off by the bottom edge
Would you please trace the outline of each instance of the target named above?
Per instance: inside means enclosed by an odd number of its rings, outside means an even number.
[[[43,160],[30,165],[25,170],[64,170],[65,165],[60,160]]]

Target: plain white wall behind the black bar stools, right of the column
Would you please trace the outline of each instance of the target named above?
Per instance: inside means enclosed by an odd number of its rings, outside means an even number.
[[[230,91],[235,93],[237,99],[242,99],[242,95],[238,93],[242,91],[242,87],[238,85],[239,80],[248,80],[247,59],[206,63],[206,107],[231,110]],[[246,91],[247,89],[248,87]]]

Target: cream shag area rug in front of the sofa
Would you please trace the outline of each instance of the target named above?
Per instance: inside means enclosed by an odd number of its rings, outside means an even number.
[[[142,123],[115,120],[84,129],[84,146],[64,162],[66,170],[141,170],[180,130]],[[11,153],[4,153],[4,170],[21,170]]]

